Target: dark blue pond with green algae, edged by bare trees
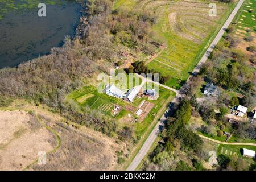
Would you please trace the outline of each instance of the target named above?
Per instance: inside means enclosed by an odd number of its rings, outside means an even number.
[[[46,4],[39,17],[38,4]],[[47,55],[74,35],[81,6],[71,0],[0,0],[0,68]]]

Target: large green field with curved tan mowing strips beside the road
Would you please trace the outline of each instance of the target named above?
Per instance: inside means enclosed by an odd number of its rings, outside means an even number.
[[[208,5],[211,2],[217,5],[216,17],[208,15]],[[118,0],[114,7],[138,12],[151,10],[158,16],[158,22],[153,29],[157,39],[166,44],[167,48],[148,63],[148,67],[164,76],[171,76],[166,85],[179,89],[235,4],[209,0]]]

